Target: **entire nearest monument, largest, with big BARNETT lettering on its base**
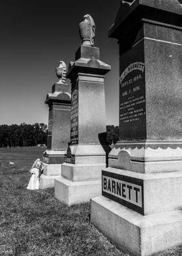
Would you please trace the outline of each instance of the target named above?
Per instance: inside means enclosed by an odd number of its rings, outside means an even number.
[[[181,14],[177,0],[125,0],[109,31],[120,46],[120,141],[91,222],[134,255],[182,244]]]

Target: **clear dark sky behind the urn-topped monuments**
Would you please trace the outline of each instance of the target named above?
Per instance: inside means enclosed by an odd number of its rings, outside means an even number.
[[[47,124],[44,101],[58,80],[55,68],[60,60],[67,67],[75,60],[85,14],[94,18],[101,61],[111,65],[105,76],[107,125],[118,125],[119,48],[108,30],[119,7],[120,0],[1,1],[0,125]]]

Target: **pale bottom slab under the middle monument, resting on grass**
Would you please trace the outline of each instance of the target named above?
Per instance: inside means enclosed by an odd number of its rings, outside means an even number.
[[[55,179],[55,198],[71,206],[90,202],[90,198],[101,195],[101,180],[72,182],[65,178]]]

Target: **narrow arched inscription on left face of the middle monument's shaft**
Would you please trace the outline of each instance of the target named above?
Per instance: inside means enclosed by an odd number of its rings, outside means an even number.
[[[79,131],[78,131],[78,90],[74,89],[72,93],[72,111],[71,111],[71,144],[79,143]]]

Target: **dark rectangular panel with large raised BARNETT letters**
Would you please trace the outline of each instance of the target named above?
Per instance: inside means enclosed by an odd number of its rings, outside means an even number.
[[[144,215],[143,180],[102,171],[102,195]]]

